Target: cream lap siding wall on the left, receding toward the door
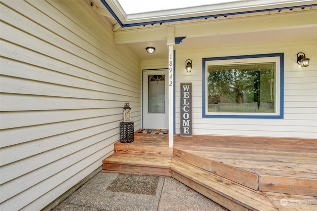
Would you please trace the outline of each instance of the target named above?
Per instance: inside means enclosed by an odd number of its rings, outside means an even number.
[[[85,1],[0,2],[0,210],[41,210],[102,165],[140,59]]]

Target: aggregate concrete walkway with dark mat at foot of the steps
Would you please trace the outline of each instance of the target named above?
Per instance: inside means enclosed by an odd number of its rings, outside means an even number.
[[[53,211],[227,211],[162,176],[98,173]]]

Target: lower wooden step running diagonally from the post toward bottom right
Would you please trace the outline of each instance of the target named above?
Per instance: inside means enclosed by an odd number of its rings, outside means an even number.
[[[276,211],[261,191],[255,191],[210,171],[172,158],[172,177],[232,211]]]

